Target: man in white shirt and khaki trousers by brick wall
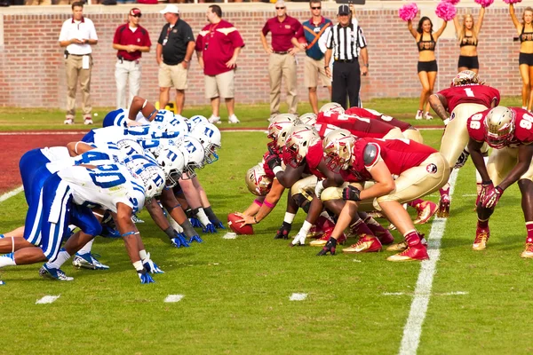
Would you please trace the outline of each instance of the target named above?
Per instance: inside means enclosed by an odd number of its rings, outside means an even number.
[[[91,45],[98,43],[96,29],[91,20],[84,18],[84,3],[72,4],[72,19],[63,22],[60,46],[67,47],[65,64],[67,68],[67,116],[65,124],[73,124],[76,114],[76,88],[78,79],[82,87],[82,111],[84,124],[91,119]]]

